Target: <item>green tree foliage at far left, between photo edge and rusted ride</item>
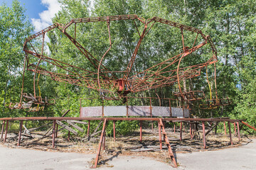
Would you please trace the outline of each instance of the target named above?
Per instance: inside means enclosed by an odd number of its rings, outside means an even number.
[[[25,8],[13,1],[11,8],[0,6],[0,101],[1,116],[13,116],[4,106],[18,101],[23,72],[23,42],[33,26],[25,16]]]

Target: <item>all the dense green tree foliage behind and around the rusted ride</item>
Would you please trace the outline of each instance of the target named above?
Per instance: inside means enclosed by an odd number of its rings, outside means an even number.
[[[218,50],[217,88],[219,98],[233,98],[231,106],[221,106],[215,110],[193,109],[193,115],[201,118],[229,116],[242,118],[251,125],[256,125],[256,1],[253,0],[192,0],[192,1],[166,1],[166,0],[60,0],[61,11],[53,18],[53,23],[68,23],[72,18],[85,18],[93,16],[114,16],[136,13],[144,18],[159,16],[187,26],[193,26],[210,35]],[[18,100],[18,91],[21,86],[21,71],[23,64],[22,42],[31,33],[33,28],[24,16],[24,8],[14,1],[11,8],[5,4],[0,7],[0,57],[1,57],[1,103]],[[142,26],[138,23],[138,28]],[[74,30],[74,27],[70,28]],[[97,59],[104,54],[109,47],[106,23],[90,23],[78,25],[78,42],[85,46]],[[111,23],[112,43],[107,54],[108,67],[119,69],[121,65],[127,65],[137,44],[138,34],[134,23],[119,21]],[[85,60],[70,40],[56,30],[47,34],[49,55],[57,60],[91,69],[90,62]],[[181,37],[178,37],[174,29],[156,24],[147,37],[137,55],[134,70],[149,67],[149,65],[163,61],[170,57],[169,53],[177,54],[181,47]],[[186,43],[193,44],[193,35],[188,35]],[[121,51],[121,52],[120,52]],[[209,56],[191,55],[183,61],[183,66],[204,62]],[[150,59],[150,60],[149,60]],[[81,62],[82,61],[82,62]],[[3,67],[5,66],[5,67]],[[210,86],[214,89],[213,65],[208,67]],[[59,71],[61,72],[61,71]],[[206,81],[206,69],[201,77],[186,80],[189,90],[202,90],[209,98],[210,92]],[[26,77],[33,77],[27,73]],[[50,78],[41,77],[42,94],[56,98],[56,105],[48,108],[41,114],[55,113],[61,115],[63,110],[70,109],[70,115],[79,115],[79,98],[97,96],[96,91],[90,89],[53,82]],[[26,91],[32,93],[31,82],[27,82]],[[174,91],[178,91],[176,84],[161,89],[143,91],[138,96],[173,97]],[[7,102],[8,101],[8,102]],[[92,103],[85,101],[85,106],[97,106],[100,101]],[[118,104],[118,103],[115,103]],[[198,106],[200,103],[194,103]],[[6,115],[10,111],[3,107]],[[24,112],[20,113],[24,114]],[[12,112],[14,115],[14,112]],[[32,114],[32,113],[31,113]],[[36,113],[35,113],[36,114]],[[11,115],[12,116],[12,115]],[[134,125],[136,128],[136,125]]]

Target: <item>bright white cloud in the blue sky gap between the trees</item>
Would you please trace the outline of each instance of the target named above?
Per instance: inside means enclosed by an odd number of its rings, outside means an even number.
[[[60,3],[57,0],[41,0],[41,4],[48,9],[39,13],[40,18],[31,18],[32,24],[35,27],[35,31],[38,32],[52,25],[51,18],[55,16],[55,13],[60,11]]]

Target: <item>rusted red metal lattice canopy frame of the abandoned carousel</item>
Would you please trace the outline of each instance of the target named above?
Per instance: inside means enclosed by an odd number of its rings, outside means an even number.
[[[134,52],[129,59],[129,64],[127,65],[126,69],[124,70],[110,70],[107,65],[103,64],[103,61],[105,60],[105,56],[107,53],[111,50],[112,47],[112,40],[111,40],[111,31],[110,31],[110,21],[120,21],[120,20],[132,20],[134,21],[134,24],[137,28],[137,32],[139,35],[139,40],[137,42],[137,45],[134,49]],[[137,23],[140,22],[144,25],[144,28],[142,31],[139,31],[139,28],[137,27]],[[76,38],[76,25],[78,23],[90,23],[90,22],[106,22],[107,23],[107,29],[109,33],[109,40],[110,40],[110,47],[105,51],[104,55],[100,57],[100,60],[97,60],[96,57],[92,56],[88,50],[85,49],[81,45],[80,42],[78,42]],[[134,66],[137,52],[139,50],[139,47],[142,43],[142,40],[145,38],[147,33],[149,33],[149,30],[154,26],[155,23],[161,23],[166,24],[170,27],[177,28],[181,30],[181,41],[183,42],[182,52],[178,55],[175,55],[173,57],[170,57],[168,60],[165,60],[164,62],[160,62],[158,64],[152,65],[151,67],[144,69],[139,72],[133,72],[132,67]],[[72,35],[68,33],[68,28],[70,26],[75,25],[75,30]],[[58,29],[61,31],[63,36],[66,36],[70,42],[75,45],[75,47],[78,48],[78,50],[86,57],[87,60],[92,64],[94,69],[88,70],[83,69],[80,67],[76,67],[74,65],[61,62],[59,60],[55,60],[53,58],[47,57],[43,55],[43,44],[42,44],[42,52],[37,52],[35,50],[35,47],[33,47],[31,40],[38,38],[39,36],[43,35],[43,40],[45,37],[45,34],[53,29]],[[196,38],[194,40],[194,43],[191,48],[188,48],[184,43],[184,35],[183,30],[186,30],[188,32],[196,33]],[[196,40],[198,40],[198,37],[201,37],[203,39],[203,42],[200,42],[196,44]],[[208,59],[207,62],[192,65],[189,67],[181,67],[181,60],[190,55],[191,53],[195,52],[199,48],[203,47],[204,45],[209,44],[209,48],[212,50],[212,57]],[[128,94],[130,92],[138,92],[138,91],[145,91],[148,89],[156,89],[162,86],[170,86],[174,84],[175,82],[178,82],[180,79],[189,79],[193,77],[197,77],[201,74],[201,69],[203,67],[206,67],[209,64],[213,64],[217,62],[217,51],[215,49],[215,46],[213,45],[212,40],[210,39],[209,35],[204,35],[201,30],[197,28],[193,28],[190,26],[184,26],[180,23],[175,23],[173,21],[168,21],[163,18],[154,17],[149,18],[145,20],[144,18],[140,18],[137,15],[124,15],[124,16],[106,16],[106,17],[95,17],[95,18],[75,18],[71,20],[69,23],[66,23],[65,25],[55,23],[53,26],[49,26],[48,28],[41,30],[40,32],[36,33],[35,35],[32,35],[31,37],[27,38],[24,46],[23,46],[24,52],[26,52],[26,62],[27,62],[27,69],[36,72],[38,74],[43,74],[49,77],[52,77],[56,81],[65,82],[68,84],[75,84],[78,86],[85,86],[90,89],[96,89],[97,91],[104,91],[104,90],[110,90],[115,92],[118,92],[121,94],[121,91],[124,91],[124,94]],[[38,58],[38,63],[33,64],[29,61],[29,56],[33,56]],[[60,69],[65,70],[65,74],[60,74],[58,72],[48,71],[46,69],[43,69],[39,67],[39,64],[41,62],[48,62],[55,67],[59,67]],[[170,69],[171,65],[176,64],[175,69]],[[118,74],[118,76],[117,76]],[[120,76],[122,75],[122,76]],[[35,82],[35,81],[34,81]],[[35,87],[35,83],[34,83]],[[182,95],[182,94],[181,94]]]

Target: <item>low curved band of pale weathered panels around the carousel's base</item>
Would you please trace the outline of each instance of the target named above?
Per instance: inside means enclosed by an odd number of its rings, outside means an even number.
[[[127,113],[128,111],[128,113]],[[163,116],[163,117],[180,117],[188,118],[189,110],[187,108],[170,108],[164,106],[102,106],[82,107],[80,110],[80,118],[98,117],[98,116]]]

